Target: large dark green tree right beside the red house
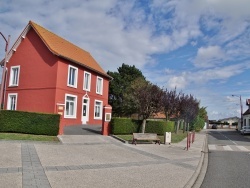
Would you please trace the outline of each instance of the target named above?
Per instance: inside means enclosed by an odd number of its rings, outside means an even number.
[[[109,84],[109,104],[113,109],[113,116],[128,116],[134,113],[134,108],[127,106],[127,102],[124,99],[125,92],[130,91],[131,83],[137,78],[145,80],[142,72],[134,65],[129,66],[122,64],[119,67],[118,72],[108,71],[108,75],[113,77],[113,80]]]

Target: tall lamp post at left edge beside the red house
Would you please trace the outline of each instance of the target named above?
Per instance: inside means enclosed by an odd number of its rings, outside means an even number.
[[[1,36],[5,40],[5,58],[4,58],[4,63],[3,63],[3,73],[2,73],[2,82],[1,82],[1,90],[0,90],[0,110],[3,109],[4,107],[4,101],[3,101],[3,96],[4,96],[4,86],[5,86],[5,72],[6,72],[6,62],[7,62],[7,54],[8,54],[8,46],[10,43],[10,35],[8,36],[8,40],[4,37],[4,35],[0,32]]]

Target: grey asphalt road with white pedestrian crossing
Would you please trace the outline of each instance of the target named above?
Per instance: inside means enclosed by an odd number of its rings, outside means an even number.
[[[208,167],[201,188],[250,187],[250,136],[208,130]]]

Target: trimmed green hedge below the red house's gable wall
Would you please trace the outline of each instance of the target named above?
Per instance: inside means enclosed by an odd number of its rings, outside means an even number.
[[[33,112],[0,111],[0,132],[56,136],[60,115]]]

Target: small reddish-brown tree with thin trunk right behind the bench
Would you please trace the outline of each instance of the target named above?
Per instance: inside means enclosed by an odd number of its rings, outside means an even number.
[[[134,90],[135,104],[139,115],[142,117],[142,133],[145,132],[146,120],[162,109],[164,91],[149,82]]]

